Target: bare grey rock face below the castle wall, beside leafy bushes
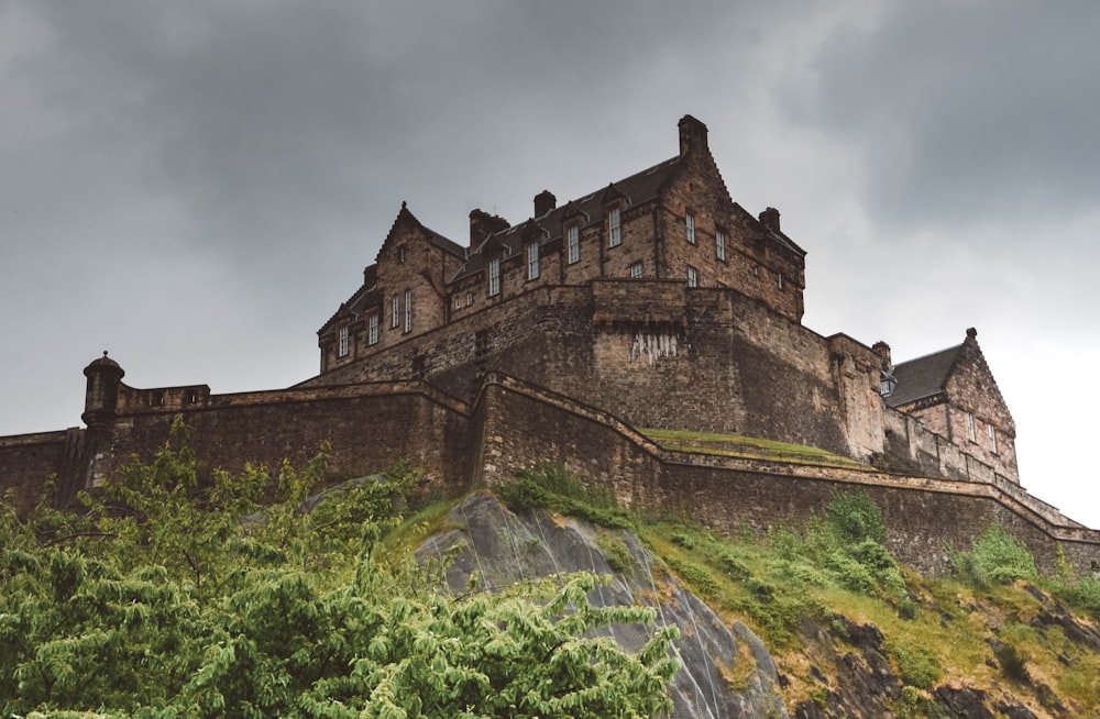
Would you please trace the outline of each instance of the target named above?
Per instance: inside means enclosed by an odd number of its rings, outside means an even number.
[[[561,573],[612,574],[610,584],[593,591],[593,605],[653,606],[659,626],[680,629],[675,651],[682,667],[671,687],[673,717],[789,717],[776,665],[760,640],[740,622],[727,627],[632,533],[544,511],[517,515],[487,495],[466,498],[448,519],[462,529],[429,538],[417,557],[441,557],[461,547],[447,573],[452,591],[464,591],[474,573],[490,589]],[[649,631],[614,627],[610,633],[620,646],[635,651]]]

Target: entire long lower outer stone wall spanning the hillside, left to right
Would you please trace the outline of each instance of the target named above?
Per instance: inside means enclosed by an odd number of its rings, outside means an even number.
[[[972,458],[965,462],[970,478],[964,480],[679,451],[553,389],[494,372],[480,383],[471,401],[408,380],[198,397],[164,388],[161,405],[147,403],[160,390],[123,385],[106,428],[0,438],[0,484],[15,489],[24,508],[50,474],[69,495],[95,486],[133,455],[151,458],[180,414],[198,456],[230,471],[246,462],[276,469],[284,458],[302,466],[328,441],[333,476],[406,458],[457,494],[498,486],[550,462],[610,488],[625,506],[692,518],[722,532],[798,526],[835,491],[859,489],[882,508],[894,554],[924,572],[945,571],[948,549],[969,547],[991,523],[1026,542],[1044,571],[1053,568],[1058,545],[1079,569],[1100,563],[1100,531],[1068,520]],[[933,445],[921,440],[921,446],[931,455]]]

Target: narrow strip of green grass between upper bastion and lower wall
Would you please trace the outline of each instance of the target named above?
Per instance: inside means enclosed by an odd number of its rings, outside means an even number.
[[[770,460],[788,464],[842,467],[870,472],[872,467],[855,460],[805,444],[776,442],[740,434],[715,434],[686,430],[639,429],[661,449],[693,454],[712,454],[745,460]]]

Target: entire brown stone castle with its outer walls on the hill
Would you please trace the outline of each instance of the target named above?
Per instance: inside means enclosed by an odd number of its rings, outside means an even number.
[[[858,486],[930,571],[990,522],[1041,565],[1059,546],[1100,560],[1100,532],[1020,486],[977,332],[893,365],[886,343],[804,327],[805,252],[776,209],[733,201],[690,115],[675,156],[563,204],[543,190],[515,225],[473,210],[466,244],[403,203],[362,280],[318,332],[320,373],[287,389],[136,389],[105,353],[85,368],[87,429],[0,438],[0,486],[96,486],[182,413],[227,467],[328,440],[334,472],[407,458],[457,493],[551,461],[719,530],[799,521]]]

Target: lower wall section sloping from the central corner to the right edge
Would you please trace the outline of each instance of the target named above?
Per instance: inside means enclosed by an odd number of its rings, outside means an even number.
[[[490,377],[480,403],[486,486],[560,461],[582,480],[614,488],[626,506],[727,533],[796,527],[820,516],[835,493],[865,491],[882,509],[891,551],[922,572],[948,571],[950,550],[969,549],[991,524],[1022,540],[1044,572],[1059,545],[1078,569],[1100,561],[1100,531],[1003,478],[966,483],[670,452],[600,410],[502,376]]]

